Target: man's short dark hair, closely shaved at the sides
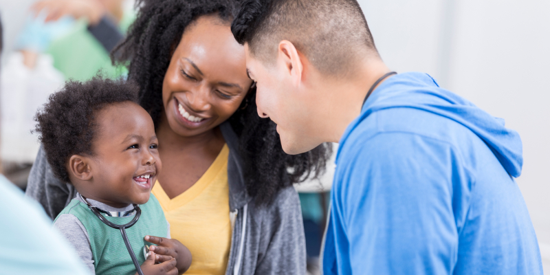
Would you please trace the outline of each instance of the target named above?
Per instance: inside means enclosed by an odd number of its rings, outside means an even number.
[[[247,0],[231,31],[266,63],[274,62],[279,42],[290,41],[324,74],[346,74],[364,50],[378,56],[355,0]]]

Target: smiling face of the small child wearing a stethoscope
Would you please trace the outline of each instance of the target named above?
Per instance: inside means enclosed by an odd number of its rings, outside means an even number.
[[[110,104],[96,114],[87,192],[114,207],[146,203],[162,164],[151,116],[133,102]],[[91,198],[93,198],[91,197]]]

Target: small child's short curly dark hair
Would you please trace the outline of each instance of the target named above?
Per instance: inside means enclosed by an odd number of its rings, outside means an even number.
[[[52,94],[34,117],[47,162],[54,175],[69,181],[65,165],[72,155],[94,155],[91,148],[98,124],[94,115],[108,104],[137,102],[139,87],[122,79],[98,74],[86,82],[69,80],[61,91]]]

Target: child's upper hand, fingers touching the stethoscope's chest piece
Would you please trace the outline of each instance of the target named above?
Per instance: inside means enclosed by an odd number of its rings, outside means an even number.
[[[191,252],[178,240],[161,238],[159,236],[145,236],[145,241],[157,245],[151,245],[149,247],[149,250],[155,252],[157,256],[170,256],[176,259],[176,267],[177,270],[179,270],[179,274],[183,274],[189,269],[191,265]],[[165,259],[166,258],[162,257],[157,259],[157,261],[164,263],[163,260]]]

